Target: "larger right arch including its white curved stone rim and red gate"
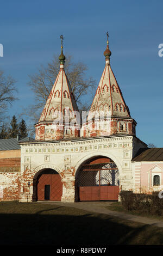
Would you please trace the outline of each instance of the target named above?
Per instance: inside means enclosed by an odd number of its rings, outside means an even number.
[[[115,164],[114,166],[112,166],[113,168],[117,168],[112,170],[111,173],[109,169],[108,171],[106,169],[102,171],[101,169],[103,166],[101,166],[101,164],[105,164],[105,157],[114,162],[111,163]],[[99,170],[95,169],[96,172],[90,172],[91,169],[89,169],[87,170],[88,172],[85,173],[83,171],[83,164],[87,164],[90,161],[99,161],[98,158],[99,160],[102,159],[102,162],[97,163],[100,164],[97,167],[99,168]],[[80,159],[74,167],[75,201],[78,202],[80,200],[117,200],[119,193],[118,191],[120,188],[121,173],[122,166],[117,158],[112,154],[97,152],[82,157],[82,159]],[[84,177],[86,177],[86,179]],[[109,187],[108,184],[110,185]],[[104,191],[105,195],[103,194]],[[110,196],[109,191],[114,191],[112,196]]]

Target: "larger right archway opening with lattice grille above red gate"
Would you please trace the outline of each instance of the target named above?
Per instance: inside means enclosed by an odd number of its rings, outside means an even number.
[[[78,201],[118,200],[119,170],[112,159],[96,156],[85,161],[76,174]]]

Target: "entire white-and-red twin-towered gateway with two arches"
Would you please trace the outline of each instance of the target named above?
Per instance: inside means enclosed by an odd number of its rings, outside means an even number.
[[[136,121],[110,66],[108,38],[104,71],[84,120],[65,74],[62,40],[59,74],[35,124],[35,140],[20,142],[21,171],[6,177],[3,198],[77,202],[140,192],[141,164],[133,157],[147,145],[135,136]]]

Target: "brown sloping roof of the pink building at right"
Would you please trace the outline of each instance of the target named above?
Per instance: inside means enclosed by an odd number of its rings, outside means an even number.
[[[163,148],[141,148],[132,161],[163,161]]]

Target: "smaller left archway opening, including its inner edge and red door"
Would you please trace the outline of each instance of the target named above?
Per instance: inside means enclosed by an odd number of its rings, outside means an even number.
[[[54,169],[45,168],[34,176],[34,198],[36,201],[61,201],[61,176]]]

